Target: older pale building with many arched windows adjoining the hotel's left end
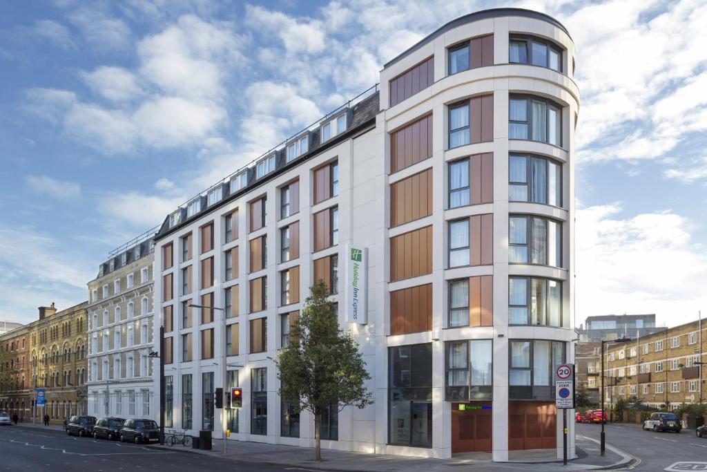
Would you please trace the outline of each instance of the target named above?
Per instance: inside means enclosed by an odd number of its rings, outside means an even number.
[[[153,381],[153,239],[113,251],[88,282],[88,414],[158,418]],[[155,363],[156,364],[156,363]]]

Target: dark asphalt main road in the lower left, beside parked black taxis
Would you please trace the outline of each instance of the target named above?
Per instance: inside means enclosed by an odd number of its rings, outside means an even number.
[[[156,451],[144,446],[69,437],[63,431],[0,427],[0,471],[164,471],[209,470],[280,472],[298,469],[226,461],[187,452]],[[299,469],[304,470],[304,469]]]

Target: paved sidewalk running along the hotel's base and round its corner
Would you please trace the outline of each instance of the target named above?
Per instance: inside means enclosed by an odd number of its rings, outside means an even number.
[[[310,470],[344,472],[392,472],[392,471],[430,471],[458,472],[460,466],[489,471],[587,471],[606,470],[627,466],[633,460],[628,454],[618,449],[607,447],[607,455],[599,454],[599,444],[593,439],[577,436],[577,458],[563,466],[562,461],[548,457],[547,451],[513,451],[509,463],[491,462],[491,454],[456,454],[452,459],[421,459],[408,456],[385,454],[366,454],[361,452],[336,451],[322,449],[322,462],[315,462],[314,449],[284,446],[282,444],[264,444],[259,442],[228,442],[228,454],[221,455],[221,439],[214,439],[212,451],[201,451],[185,447],[167,447],[152,445],[150,448],[182,451],[185,453],[212,456],[214,459],[259,464],[276,464]]]

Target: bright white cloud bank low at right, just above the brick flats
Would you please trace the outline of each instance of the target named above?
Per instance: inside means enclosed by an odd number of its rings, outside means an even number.
[[[673,212],[622,217],[619,204],[578,209],[576,319],[656,313],[670,325],[707,306],[707,255],[694,224]]]

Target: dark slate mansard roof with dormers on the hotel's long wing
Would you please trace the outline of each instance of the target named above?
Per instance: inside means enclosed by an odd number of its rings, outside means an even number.
[[[363,129],[375,123],[375,115],[379,111],[379,93],[378,84],[376,84],[187,200],[165,218],[155,235],[155,241],[177,231],[203,214],[212,212],[240,195],[264,185],[277,175],[308,161],[345,139],[355,137]],[[343,130],[338,129],[340,119],[344,123]],[[332,126],[332,123],[337,126],[337,131],[332,133],[328,139],[322,139],[324,128]],[[306,151],[292,159],[287,159],[288,146],[301,142],[303,139],[306,139]],[[259,175],[261,173],[259,166],[264,169],[262,175]]]

